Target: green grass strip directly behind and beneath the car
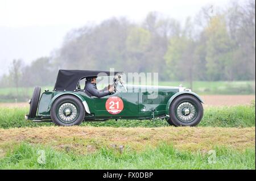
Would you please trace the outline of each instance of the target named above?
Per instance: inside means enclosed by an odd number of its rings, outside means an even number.
[[[0,128],[51,126],[53,123],[34,123],[24,120],[28,107],[0,107]],[[82,126],[93,127],[167,127],[165,120],[109,120],[83,122]],[[200,127],[255,127],[255,103],[247,106],[208,107]]]

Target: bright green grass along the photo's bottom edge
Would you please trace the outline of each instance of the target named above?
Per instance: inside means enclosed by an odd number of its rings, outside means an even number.
[[[45,159],[39,163],[42,151]],[[172,145],[160,144],[140,153],[129,148],[120,152],[102,147],[94,153],[79,155],[22,143],[0,159],[0,169],[255,169],[255,149],[214,151],[216,159],[209,152],[179,151]]]

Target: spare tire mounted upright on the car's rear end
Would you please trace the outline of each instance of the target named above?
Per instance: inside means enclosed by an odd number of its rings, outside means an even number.
[[[35,86],[32,98],[30,100],[30,112],[28,113],[29,118],[35,118],[36,111],[38,110],[38,103],[40,99],[41,87]]]

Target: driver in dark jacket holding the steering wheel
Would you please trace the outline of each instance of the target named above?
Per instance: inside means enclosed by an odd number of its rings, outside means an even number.
[[[84,89],[91,96],[96,96],[97,98],[102,98],[106,95],[109,95],[111,92],[114,91],[114,87],[110,86],[110,85],[99,91],[96,86],[96,79],[97,79],[97,77],[86,77]]]

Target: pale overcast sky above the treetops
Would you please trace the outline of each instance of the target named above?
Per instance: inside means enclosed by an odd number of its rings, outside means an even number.
[[[148,12],[158,11],[181,22],[195,16],[205,5],[225,7],[230,0],[0,0],[0,75],[10,61],[27,64],[49,56],[61,46],[65,34],[86,23],[100,23],[113,16],[141,22]]]

